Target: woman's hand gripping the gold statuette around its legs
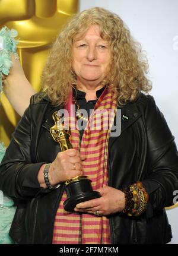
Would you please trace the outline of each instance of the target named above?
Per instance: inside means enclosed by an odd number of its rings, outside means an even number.
[[[84,159],[82,159],[84,160]],[[81,156],[74,148],[59,152],[49,168],[49,179],[52,186],[82,175]]]

